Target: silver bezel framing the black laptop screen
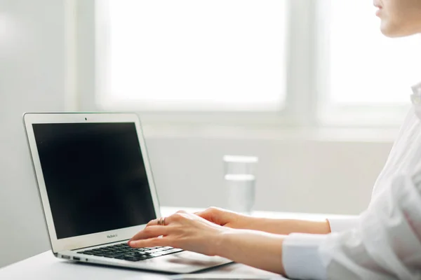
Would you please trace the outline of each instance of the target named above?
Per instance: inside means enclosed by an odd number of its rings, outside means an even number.
[[[36,123],[46,123],[46,124],[48,123],[134,123],[135,128],[136,128],[136,133],[138,134],[142,158],[145,163],[147,180],[149,182],[149,189],[152,195],[152,202],[154,204],[156,218],[161,217],[159,200],[158,200],[158,196],[156,195],[156,188],[155,188],[154,179],[152,175],[152,169],[149,163],[149,157],[147,155],[147,147],[146,147],[145,139],[142,132],[142,126],[140,124],[140,119],[135,113],[25,113],[23,116],[23,122],[25,125],[25,132],[27,134],[29,153],[32,158],[32,166],[34,168],[36,185],[38,186],[39,197],[42,204],[41,206],[44,211],[44,218],[46,221],[46,227],[48,230],[48,235],[50,237],[51,248],[53,250],[53,253],[127,240],[133,237],[135,233],[145,228],[146,224],[135,225],[133,227],[121,228],[118,230],[109,230],[106,232],[97,232],[90,235],[81,235],[77,237],[58,239],[55,232],[53,216],[51,214],[50,202],[48,201],[46,184],[44,181],[44,176],[43,176],[43,172],[41,168],[41,162],[39,160],[38,148],[36,147],[34,130],[32,127],[33,124],[36,124]]]

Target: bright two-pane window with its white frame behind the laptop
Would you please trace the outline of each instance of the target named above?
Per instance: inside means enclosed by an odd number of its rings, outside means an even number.
[[[421,79],[418,36],[383,36],[365,0],[98,2],[100,109],[158,122],[396,127]]]

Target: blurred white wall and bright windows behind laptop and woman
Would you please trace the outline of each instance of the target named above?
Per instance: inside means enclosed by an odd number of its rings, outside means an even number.
[[[162,205],[359,214],[421,79],[366,0],[0,0],[0,267],[49,249],[22,113],[134,111]],[[6,253],[4,253],[6,252]]]

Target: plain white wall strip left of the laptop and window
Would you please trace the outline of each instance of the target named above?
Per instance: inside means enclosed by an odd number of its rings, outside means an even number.
[[[63,3],[0,0],[0,267],[48,249],[22,126],[64,109]]]

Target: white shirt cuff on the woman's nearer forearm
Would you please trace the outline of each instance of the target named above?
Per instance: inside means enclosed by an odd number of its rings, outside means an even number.
[[[282,262],[291,279],[326,279],[326,267],[319,246],[326,235],[293,233],[283,239]]]

